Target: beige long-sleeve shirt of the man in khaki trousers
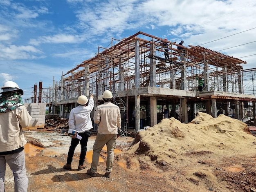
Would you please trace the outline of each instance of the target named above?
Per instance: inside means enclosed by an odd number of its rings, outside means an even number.
[[[96,108],[93,121],[99,124],[99,134],[117,134],[117,127],[121,128],[120,109],[111,102],[105,102]]]

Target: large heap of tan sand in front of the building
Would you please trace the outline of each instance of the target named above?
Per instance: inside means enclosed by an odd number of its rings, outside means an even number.
[[[171,163],[189,161],[189,154],[232,156],[246,150],[255,152],[255,136],[245,123],[225,115],[213,118],[199,112],[191,123],[175,118],[163,119],[159,124],[140,131],[135,145],[127,153],[145,154],[151,160]]]

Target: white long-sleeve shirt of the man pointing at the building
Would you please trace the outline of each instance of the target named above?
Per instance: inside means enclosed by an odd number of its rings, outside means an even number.
[[[90,97],[88,105],[79,105],[70,111],[68,125],[70,129],[85,132],[93,128],[91,120],[91,112],[94,107],[94,100]]]

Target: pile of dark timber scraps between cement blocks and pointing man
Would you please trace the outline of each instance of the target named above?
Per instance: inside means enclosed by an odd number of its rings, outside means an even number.
[[[68,129],[68,119],[61,118],[58,115],[46,115],[45,116],[45,127],[44,128],[54,128],[54,129]]]

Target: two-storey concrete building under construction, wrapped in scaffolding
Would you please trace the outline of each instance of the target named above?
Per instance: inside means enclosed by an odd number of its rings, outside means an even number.
[[[41,102],[47,98],[45,103],[53,114],[68,118],[80,95],[94,94],[97,106],[103,92],[110,90],[113,102],[120,107],[122,128],[126,131],[140,129],[141,109],[146,111],[143,127],[159,123],[165,108],[168,118],[175,117],[182,123],[190,122],[198,112],[217,117],[222,108],[226,116],[242,121],[248,118],[256,125],[252,118],[256,116],[254,92],[245,94],[244,90],[254,87],[254,78],[247,79],[244,85],[245,61],[200,46],[167,42],[164,45],[166,40],[140,31],[122,40],[112,38],[107,48],[98,47],[94,58],[62,72],[60,81],[53,80],[47,96],[42,99],[41,95]],[[178,50],[177,46],[183,49]],[[166,48],[169,59],[164,56]],[[247,70],[247,74],[251,71]],[[204,81],[200,92],[198,78]],[[37,89],[34,88],[33,101]]]

